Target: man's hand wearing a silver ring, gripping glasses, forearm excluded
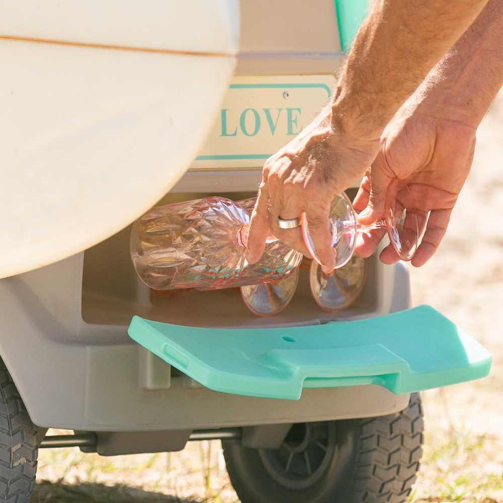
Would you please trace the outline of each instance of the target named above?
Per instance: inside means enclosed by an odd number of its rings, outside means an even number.
[[[284,230],[277,223],[278,217],[289,220],[305,213],[316,255],[323,269],[330,272],[335,263],[328,230],[330,202],[365,173],[378,149],[378,138],[358,141],[334,129],[330,107],[323,109],[264,165],[248,234],[248,261],[260,259],[265,239],[271,233],[309,255],[300,227]]]

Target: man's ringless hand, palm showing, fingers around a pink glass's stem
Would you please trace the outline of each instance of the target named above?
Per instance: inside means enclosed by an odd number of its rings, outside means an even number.
[[[470,171],[475,149],[472,125],[440,119],[421,104],[406,103],[386,127],[381,150],[365,175],[354,201],[358,220],[371,224],[384,216],[384,196],[393,178],[404,180],[417,209],[429,212],[423,241],[412,258],[419,267],[432,257],[444,237],[451,211]],[[381,229],[360,234],[356,253],[370,256],[382,239]],[[385,264],[399,260],[391,246],[380,255]]]

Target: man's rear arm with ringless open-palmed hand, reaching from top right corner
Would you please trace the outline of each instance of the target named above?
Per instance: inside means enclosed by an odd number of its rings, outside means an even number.
[[[425,264],[445,234],[470,171],[476,129],[502,85],[503,0],[489,0],[386,126],[354,205],[362,224],[379,220],[389,181],[397,177],[407,182],[418,209],[431,211],[413,266]],[[372,231],[359,236],[357,253],[369,256],[382,235]],[[387,247],[381,260],[391,264],[398,257]]]

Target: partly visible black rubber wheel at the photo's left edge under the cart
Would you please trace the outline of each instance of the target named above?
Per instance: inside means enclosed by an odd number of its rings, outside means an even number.
[[[37,456],[37,430],[0,360],[0,501],[28,503]]]

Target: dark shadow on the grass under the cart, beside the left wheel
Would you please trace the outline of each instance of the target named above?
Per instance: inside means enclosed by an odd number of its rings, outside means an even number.
[[[31,503],[199,503],[158,492],[142,491],[126,485],[82,483],[67,485],[61,481],[43,480],[35,484]]]

